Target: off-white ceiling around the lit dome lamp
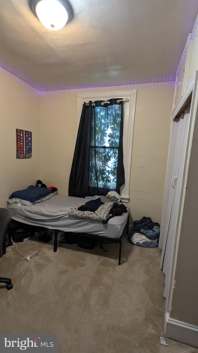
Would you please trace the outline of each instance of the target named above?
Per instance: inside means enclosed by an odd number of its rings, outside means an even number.
[[[0,66],[38,90],[175,79],[197,0],[70,0],[74,18],[46,29],[28,0],[0,0]]]

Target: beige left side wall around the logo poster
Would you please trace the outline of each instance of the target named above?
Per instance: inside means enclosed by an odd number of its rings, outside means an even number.
[[[37,93],[0,70],[0,207],[15,190],[40,177],[39,110]],[[32,131],[32,159],[16,159],[16,128]]]

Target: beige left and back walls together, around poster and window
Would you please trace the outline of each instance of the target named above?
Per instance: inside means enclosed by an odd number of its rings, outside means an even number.
[[[78,92],[40,96],[4,72],[0,74],[1,128],[4,132],[0,139],[4,151],[0,157],[1,166],[4,166],[0,175],[1,206],[6,205],[14,190],[35,185],[39,178],[68,195],[78,131]],[[130,178],[130,223],[142,216],[160,222],[172,99],[171,85],[138,89]],[[32,131],[31,160],[16,160],[16,128]]]

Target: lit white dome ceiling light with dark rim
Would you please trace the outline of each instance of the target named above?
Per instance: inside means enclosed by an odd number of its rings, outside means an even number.
[[[67,0],[29,0],[32,12],[48,29],[57,31],[73,18],[72,7]]]

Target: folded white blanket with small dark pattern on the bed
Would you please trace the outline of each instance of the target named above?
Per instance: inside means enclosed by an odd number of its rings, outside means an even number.
[[[94,221],[106,221],[106,219],[109,217],[109,212],[114,205],[113,202],[105,202],[103,205],[100,205],[95,212],[78,210],[78,208],[82,205],[85,205],[85,203],[86,202],[80,202],[70,208],[68,215],[78,218],[91,219]]]

